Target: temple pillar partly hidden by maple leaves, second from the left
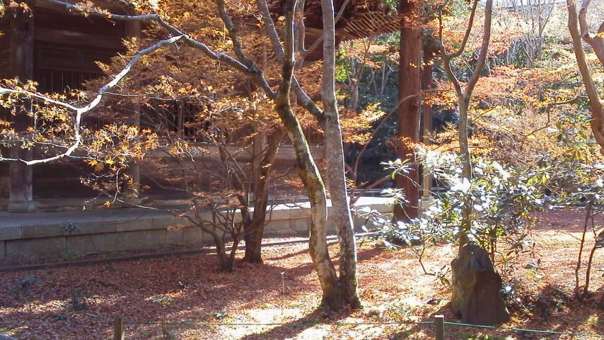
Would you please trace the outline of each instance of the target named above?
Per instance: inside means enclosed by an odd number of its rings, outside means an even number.
[[[134,13],[133,13],[134,14]],[[126,21],[124,34],[129,38],[137,39],[137,46],[140,45],[141,38],[141,22],[140,21]],[[133,74],[133,77],[137,77],[137,74]],[[140,88],[140,84],[137,81],[134,85],[135,89],[138,91]],[[131,104],[132,108],[130,110],[130,114],[132,118],[129,119],[128,124],[132,126],[137,126],[140,128],[141,125],[141,102],[140,98],[134,98]],[[140,200],[140,189],[141,189],[141,166],[137,162],[132,162],[129,164],[129,168],[127,171],[128,176],[132,179],[132,186],[127,190],[127,201],[132,204],[141,203]]]

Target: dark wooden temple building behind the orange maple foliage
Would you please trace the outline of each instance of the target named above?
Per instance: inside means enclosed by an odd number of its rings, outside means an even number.
[[[278,13],[279,1],[269,2],[272,11]],[[397,30],[396,20],[384,11],[367,9],[363,6],[365,3],[361,2],[352,0],[347,4],[342,20],[337,23],[339,42]],[[28,3],[31,15],[13,15],[6,8],[4,16],[0,18],[0,31],[4,33],[0,36],[0,78],[31,79],[37,82],[40,92],[60,93],[82,89],[85,81],[103,75],[96,62],[109,62],[111,57],[124,51],[124,37],[141,35],[140,23],[82,16],[43,0]],[[306,40],[310,44],[322,33],[321,14],[318,1],[307,0],[306,3]],[[103,4],[112,13],[127,13],[119,1],[105,1]],[[335,11],[339,11],[343,4],[344,1],[337,0]],[[17,129],[27,128],[27,118],[14,119]],[[102,124],[93,119],[84,123]],[[180,127],[176,128],[183,128],[182,120]],[[310,139],[316,157],[323,158],[320,137]],[[35,157],[35,153],[34,150],[29,157]],[[23,150],[13,149],[11,156],[23,157]],[[285,146],[281,148],[277,160],[293,162],[294,157],[293,149]],[[71,160],[35,166],[0,162],[0,210],[30,212],[81,207],[84,201],[94,196],[93,191],[81,183],[82,171],[83,164]],[[139,174],[134,176],[135,181],[149,187],[141,190],[156,190],[159,198],[166,194],[153,188],[152,181],[147,180],[149,173],[146,169],[138,171]],[[153,192],[145,194],[153,195]]]

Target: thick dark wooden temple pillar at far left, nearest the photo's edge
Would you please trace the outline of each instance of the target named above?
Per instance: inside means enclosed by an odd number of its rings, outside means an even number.
[[[33,13],[23,13],[17,10],[16,16],[11,18],[11,73],[25,82],[33,79]],[[23,103],[24,107],[28,103]],[[18,111],[13,118],[14,128],[17,132],[25,132],[33,125],[27,111]],[[30,160],[33,157],[31,149],[21,149],[15,145],[10,149],[10,157]],[[8,186],[8,211],[30,212],[33,211],[33,171],[31,166],[22,162],[9,164],[10,183]]]

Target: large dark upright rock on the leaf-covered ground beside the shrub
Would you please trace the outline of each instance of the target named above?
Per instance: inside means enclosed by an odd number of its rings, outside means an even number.
[[[501,296],[501,276],[487,251],[470,242],[453,259],[451,268],[451,308],[461,322],[493,325],[509,321],[510,314]]]

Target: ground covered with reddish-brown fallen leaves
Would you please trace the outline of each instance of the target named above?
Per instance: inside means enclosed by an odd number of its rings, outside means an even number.
[[[511,306],[512,321],[499,330],[447,325],[446,339],[597,339],[511,327],[604,334],[604,315],[597,309],[604,251],[596,252],[593,264],[591,288],[598,293],[584,302],[572,294],[583,212],[538,216],[535,251],[515,263],[521,302]],[[587,244],[592,242],[590,237]],[[337,245],[330,251],[337,256]],[[262,265],[239,261],[235,273],[219,271],[211,254],[0,273],[0,333],[16,339],[111,339],[112,319],[123,315],[126,339],[432,339],[434,326],[417,322],[431,322],[434,314],[455,321],[448,288],[426,276],[406,251],[360,244],[364,308],[337,314],[316,309],[320,287],[306,244],[267,247],[263,256]],[[425,265],[438,269],[453,256],[450,246],[439,246]],[[539,259],[538,271],[525,268]],[[340,325],[325,324],[332,322]]]

